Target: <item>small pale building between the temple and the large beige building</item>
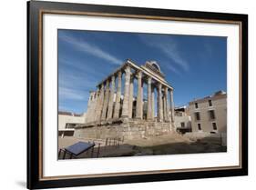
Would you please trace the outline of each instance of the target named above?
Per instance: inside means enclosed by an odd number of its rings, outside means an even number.
[[[191,132],[191,117],[187,106],[175,107],[174,125],[176,131],[180,134]]]

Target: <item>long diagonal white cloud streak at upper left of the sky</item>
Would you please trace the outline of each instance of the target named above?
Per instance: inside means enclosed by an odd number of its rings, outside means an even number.
[[[94,55],[98,58],[108,61],[108,64],[121,65],[122,60],[117,56],[109,54],[107,51],[101,49],[97,45],[90,44],[83,39],[78,39],[72,35],[60,35],[60,40],[67,42],[69,45],[73,45],[78,51],[85,52],[89,55]]]

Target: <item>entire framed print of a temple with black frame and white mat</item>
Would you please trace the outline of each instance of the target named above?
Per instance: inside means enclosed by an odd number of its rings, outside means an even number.
[[[27,3],[27,188],[248,174],[248,15]]]

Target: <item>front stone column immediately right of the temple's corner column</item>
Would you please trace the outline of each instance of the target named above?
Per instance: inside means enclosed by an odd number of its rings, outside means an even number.
[[[136,103],[136,118],[142,119],[142,114],[143,114],[143,107],[142,107],[142,83],[141,83],[141,78],[142,78],[142,72],[138,71],[138,92],[137,92],[137,103]]]

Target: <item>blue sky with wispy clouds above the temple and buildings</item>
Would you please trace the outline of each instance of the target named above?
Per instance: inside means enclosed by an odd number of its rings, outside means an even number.
[[[58,30],[58,109],[87,111],[89,91],[130,58],[158,62],[176,106],[227,90],[227,38]]]

